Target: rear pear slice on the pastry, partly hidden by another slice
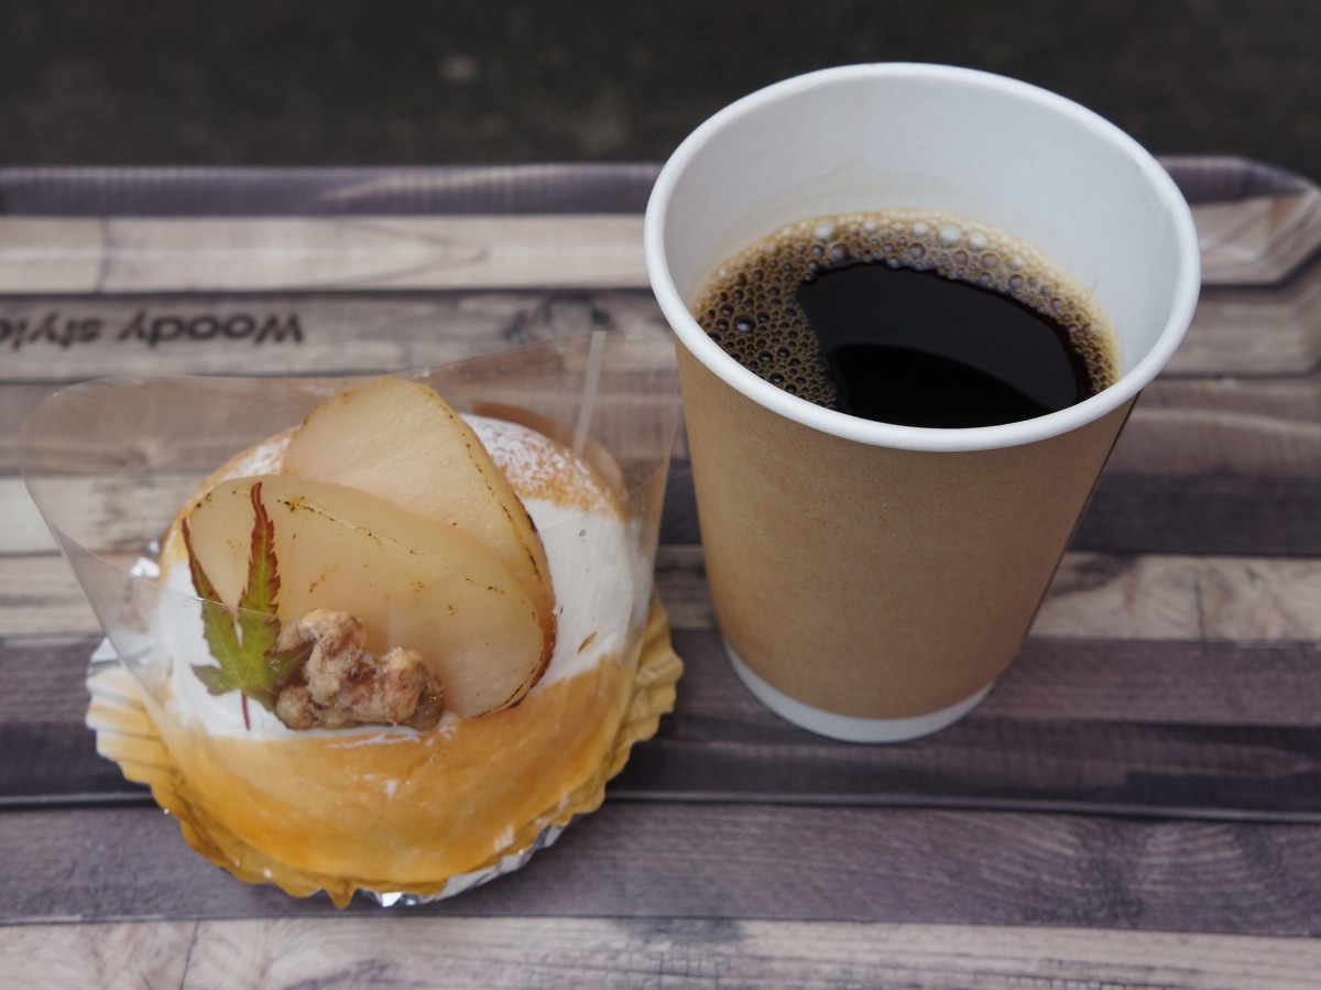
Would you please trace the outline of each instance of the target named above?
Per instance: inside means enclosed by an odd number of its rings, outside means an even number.
[[[295,432],[281,471],[357,488],[485,543],[555,633],[542,538],[477,434],[435,390],[376,378],[324,402]]]

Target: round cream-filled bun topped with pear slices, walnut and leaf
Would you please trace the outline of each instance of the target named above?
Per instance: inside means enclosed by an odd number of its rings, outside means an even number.
[[[629,734],[622,506],[601,459],[400,378],[236,455],[162,542],[157,798],[238,876],[338,904],[452,891],[592,810],[672,701]]]

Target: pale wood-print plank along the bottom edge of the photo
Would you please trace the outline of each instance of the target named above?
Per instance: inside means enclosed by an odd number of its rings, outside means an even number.
[[[353,917],[136,921],[0,929],[29,986],[770,987],[1314,986],[1321,950],[1291,938],[1082,928],[690,919]],[[111,982],[103,982],[115,974]]]

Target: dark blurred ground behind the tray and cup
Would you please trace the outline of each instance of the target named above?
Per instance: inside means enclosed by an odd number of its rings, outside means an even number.
[[[1317,0],[0,0],[0,164],[658,161],[762,85],[890,59],[1321,178]]]

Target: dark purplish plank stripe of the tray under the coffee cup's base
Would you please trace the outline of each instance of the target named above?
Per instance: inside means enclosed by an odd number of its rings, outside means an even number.
[[[82,726],[91,640],[8,641],[0,806],[144,800]],[[614,792],[635,800],[1185,814],[1321,823],[1321,646],[1029,640],[982,707],[905,747],[802,732],[762,708],[719,634],[676,632],[675,714]]]

